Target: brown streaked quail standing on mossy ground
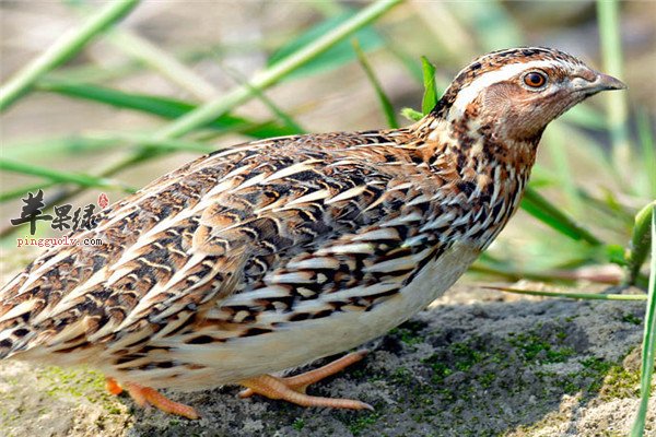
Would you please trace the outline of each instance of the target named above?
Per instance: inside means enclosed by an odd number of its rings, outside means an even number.
[[[102,246],[51,248],[0,291],[0,358],[86,365],[112,393],[188,418],[161,389],[371,410],[306,388],[464,274],[517,211],[549,122],[623,88],[564,51],[509,48],[408,127],[201,156],[71,235]]]

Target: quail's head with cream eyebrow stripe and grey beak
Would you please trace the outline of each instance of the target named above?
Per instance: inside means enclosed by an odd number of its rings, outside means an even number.
[[[539,139],[550,121],[585,98],[625,87],[563,51],[513,48],[484,55],[460,71],[434,113],[523,141]]]

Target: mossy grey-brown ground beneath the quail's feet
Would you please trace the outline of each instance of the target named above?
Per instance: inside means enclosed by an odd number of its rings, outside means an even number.
[[[643,317],[643,303],[456,286],[368,344],[363,362],[309,389],[375,412],[241,400],[237,387],[168,393],[202,414],[187,421],[106,394],[91,370],[4,362],[0,435],[624,436],[639,402]],[[655,420],[653,399],[647,436]]]

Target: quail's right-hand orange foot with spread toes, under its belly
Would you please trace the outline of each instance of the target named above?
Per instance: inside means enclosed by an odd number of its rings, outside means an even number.
[[[368,351],[353,352],[316,370],[289,378],[262,375],[246,379],[239,382],[242,386],[247,387],[246,390],[239,392],[239,398],[249,398],[257,393],[269,399],[282,399],[301,406],[329,406],[332,409],[373,411],[374,408],[372,405],[353,399],[331,399],[305,394],[307,386],[320,381],[330,375],[335,375],[353,363],[358,363],[367,353]]]

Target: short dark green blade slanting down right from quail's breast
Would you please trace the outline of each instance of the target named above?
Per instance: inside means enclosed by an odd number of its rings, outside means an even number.
[[[522,209],[570,238],[584,240],[593,246],[600,246],[602,244],[599,238],[595,237],[589,231],[576,223],[530,187],[524,193]]]

